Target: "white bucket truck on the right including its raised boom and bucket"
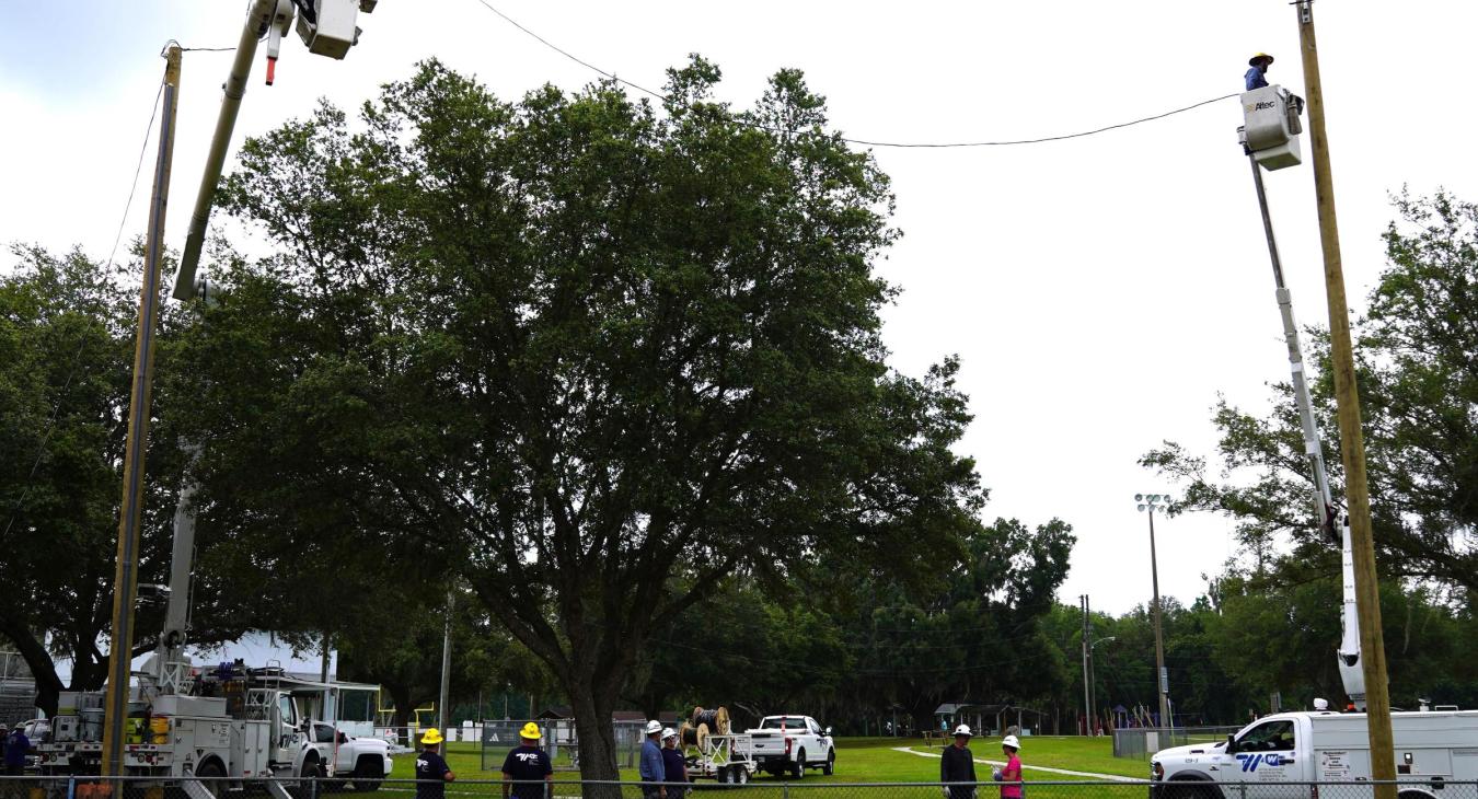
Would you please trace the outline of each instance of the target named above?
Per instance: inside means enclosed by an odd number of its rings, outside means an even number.
[[[1243,143],[1252,160],[1253,185],[1262,208],[1268,254],[1273,258],[1276,297],[1278,313],[1283,318],[1283,338],[1287,344],[1289,365],[1293,374],[1293,399],[1304,428],[1305,458],[1314,479],[1314,517],[1330,541],[1336,538],[1341,541],[1344,551],[1344,637],[1335,656],[1341,681],[1349,696],[1349,707],[1357,712],[1336,713],[1329,710],[1326,700],[1317,699],[1311,712],[1276,713],[1261,718],[1227,735],[1225,741],[1178,746],[1157,752],[1150,761],[1150,777],[1154,781],[1151,796],[1157,799],[1317,799],[1318,787],[1312,784],[1315,781],[1341,783],[1372,778],[1370,738],[1367,716],[1363,712],[1366,710],[1366,679],[1360,651],[1360,617],[1355,613],[1354,548],[1351,546],[1348,518],[1344,524],[1339,523],[1341,512],[1329,487],[1324,447],[1314,416],[1314,403],[1304,378],[1304,356],[1298,325],[1293,320],[1293,301],[1283,282],[1283,263],[1273,236],[1273,222],[1259,171],[1262,161],[1255,149],[1258,136],[1253,136],[1253,130],[1261,124],[1258,120],[1261,108],[1267,106],[1276,111],[1273,124],[1284,124],[1286,128],[1289,127],[1286,120],[1296,120],[1296,112],[1286,111],[1284,105],[1280,105],[1292,102],[1280,87],[1250,92],[1243,96],[1243,100],[1247,114]],[[1301,100],[1296,105],[1301,106]],[[1287,130],[1284,130],[1286,133]],[[1298,152],[1296,142],[1292,152],[1295,155]],[[1295,157],[1289,162],[1264,165],[1281,168],[1296,162]],[[1478,780],[1478,712],[1460,712],[1454,706],[1438,706],[1435,710],[1428,710],[1423,702],[1419,712],[1391,713],[1391,733],[1395,744],[1397,780],[1401,783],[1398,796],[1401,799],[1440,799],[1444,795],[1438,792],[1445,787],[1445,783]],[[1228,783],[1236,787],[1222,790]]]

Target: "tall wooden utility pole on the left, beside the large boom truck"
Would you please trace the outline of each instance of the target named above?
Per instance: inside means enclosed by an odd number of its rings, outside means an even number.
[[[164,211],[170,195],[170,161],[174,157],[174,102],[180,86],[180,47],[164,53],[164,114],[160,151],[154,162],[149,229],[139,291],[139,332],[133,350],[133,390],[129,396],[129,434],[123,450],[123,502],[118,511],[118,566],[112,577],[112,635],[108,648],[108,694],[103,709],[102,772],[121,775],[127,735],[129,679],[133,662],[133,604],[139,592],[139,523],[143,508],[143,455],[149,446],[149,402],[154,385],[154,334],[160,316],[160,261],[164,253]],[[148,735],[145,730],[145,735]],[[151,741],[152,743],[152,741]]]

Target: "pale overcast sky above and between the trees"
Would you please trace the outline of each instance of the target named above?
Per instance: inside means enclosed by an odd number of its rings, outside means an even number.
[[[1247,58],[1304,93],[1284,0],[1052,3],[594,3],[489,0],[560,47],[659,87],[699,52],[746,106],[782,66],[806,71],[848,137],[1001,140],[1073,133],[1240,92]],[[164,62],[161,46],[235,44],[244,1],[0,0],[0,242],[112,247]],[[1364,309],[1392,217],[1389,193],[1445,186],[1478,199],[1472,75],[1478,4],[1315,3],[1351,306]],[[356,106],[436,56],[504,97],[594,75],[477,0],[381,0],[343,62],[291,35],[273,87],[262,56],[234,145],[318,97]],[[180,248],[229,53],[185,55],[167,244]],[[1135,465],[1163,439],[1210,452],[1218,393],[1261,409],[1287,377],[1271,272],[1244,157],[1222,100],[1069,142],[878,149],[903,239],[879,263],[903,288],[887,310],[893,365],[958,353],[975,422],[962,450],[989,517],[1070,521],[1061,598],[1120,613],[1150,592],[1137,492],[1174,492]],[[152,145],[151,145],[152,146]],[[1305,142],[1305,155],[1310,145]],[[152,151],[151,151],[152,154]],[[231,168],[231,162],[228,162]],[[142,233],[149,165],[127,219]],[[1312,173],[1268,176],[1304,322],[1327,320]],[[7,267],[12,258],[0,258]],[[1191,601],[1236,555],[1231,524],[1157,526],[1160,588]],[[1335,601],[1335,597],[1330,597]],[[1338,631],[1330,631],[1330,641]]]

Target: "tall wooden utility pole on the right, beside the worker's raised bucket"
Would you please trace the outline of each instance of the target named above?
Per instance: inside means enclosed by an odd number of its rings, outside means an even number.
[[[1355,610],[1360,617],[1360,659],[1366,675],[1370,777],[1395,780],[1391,691],[1386,684],[1376,551],[1370,530],[1370,489],[1366,484],[1366,443],[1360,430],[1360,393],[1355,385],[1354,347],[1349,341],[1349,306],[1345,301],[1345,275],[1339,258],[1335,182],[1329,167],[1329,136],[1324,131],[1324,89],[1318,78],[1318,44],[1314,38],[1314,3],[1299,0],[1295,9],[1299,22],[1299,52],[1304,56],[1308,127],[1314,145],[1314,192],[1318,201],[1318,241],[1324,250],[1324,289],[1329,294],[1329,340],[1339,416],[1339,449],[1345,464],[1345,501],[1349,505],[1349,538],[1355,557]],[[1395,786],[1376,786],[1376,799],[1395,799]]]

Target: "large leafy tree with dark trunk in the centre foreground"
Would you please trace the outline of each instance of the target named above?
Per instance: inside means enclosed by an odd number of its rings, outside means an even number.
[[[248,142],[226,205],[279,250],[194,350],[216,523],[327,515],[455,575],[560,681],[588,777],[664,620],[826,552],[919,577],[983,501],[956,363],[884,365],[885,176],[800,74],[746,112],[717,80],[505,103],[432,62],[359,130]]]

